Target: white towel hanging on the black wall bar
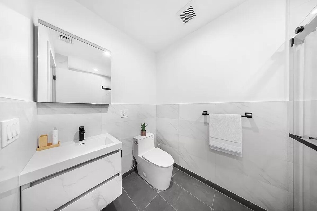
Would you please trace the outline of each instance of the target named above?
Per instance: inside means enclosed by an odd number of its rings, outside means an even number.
[[[211,149],[242,156],[241,115],[210,114],[209,127]]]

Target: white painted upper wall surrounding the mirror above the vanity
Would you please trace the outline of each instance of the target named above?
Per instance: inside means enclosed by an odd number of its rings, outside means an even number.
[[[112,103],[156,103],[154,52],[76,1],[34,2],[34,20],[40,18],[112,51]]]

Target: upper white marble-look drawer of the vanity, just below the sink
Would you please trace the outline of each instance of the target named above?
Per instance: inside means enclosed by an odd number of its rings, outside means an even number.
[[[22,211],[55,210],[120,172],[121,152],[61,172],[22,190]]]

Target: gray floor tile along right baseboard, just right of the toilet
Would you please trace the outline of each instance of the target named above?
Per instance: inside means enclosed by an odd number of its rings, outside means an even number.
[[[189,176],[182,171],[176,172],[176,174],[172,177],[172,181],[190,192],[192,195],[197,197],[208,206],[212,206],[216,191],[215,189],[209,187],[208,185],[198,181],[197,179]]]

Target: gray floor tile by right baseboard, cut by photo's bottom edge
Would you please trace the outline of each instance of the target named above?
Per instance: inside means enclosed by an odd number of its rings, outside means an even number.
[[[219,191],[215,193],[212,208],[216,211],[252,211]]]

